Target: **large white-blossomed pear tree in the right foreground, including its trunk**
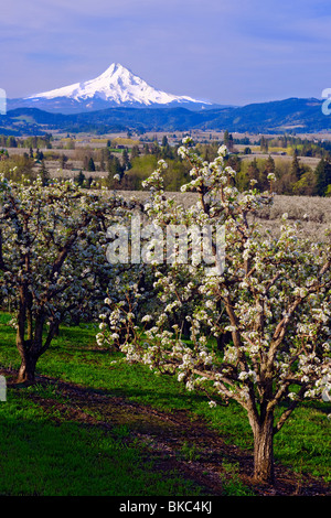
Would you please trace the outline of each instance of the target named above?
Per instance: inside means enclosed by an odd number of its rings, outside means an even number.
[[[285,216],[279,233],[265,237],[254,213],[273,203],[271,187],[258,193],[252,185],[239,193],[235,171],[225,166],[224,147],[211,163],[194,152],[189,138],[179,153],[192,168],[192,181],[182,191],[195,192],[197,203],[188,209],[164,196],[166,165],[160,162],[146,182],[151,190],[147,213],[161,228],[171,223],[223,226],[224,268],[211,274],[207,265],[194,263],[193,238],[186,263],[169,263],[164,270],[151,259],[163,310],[156,319],[146,314],[138,321],[128,298],[110,304],[109,314],[103,315],[110,324],[100,335],[110,344],[121,336],[118,345],[129,361],[173,375],[189,390],[203,389],[211,408],[221,400],[237,401],[254,435],[254,476],[271,484],[275,434],[300,402],[330,390],[330,236],[309,242],[300,236],[299,224],[289,225]],[[270,184],[273,180],[270,175]],[[188,272],[191,282],[179,290],[178,280]],[[139,287],[132,287],[131,301],[137,293]],[[171,324],[188,300],[194,301],[186,315],[189,344],[179,325]],[[213,343],[225,332],[231,339],[220,352]]]

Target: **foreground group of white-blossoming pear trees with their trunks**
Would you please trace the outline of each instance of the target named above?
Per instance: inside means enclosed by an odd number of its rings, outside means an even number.
[[[312,242],[285,214],[266,237],[255,215],[273,204],[275,176],[267,192],[252,182],[239,193],[227,153],[222,145],[207,162],[184,139],[191,181],[181,190],[197,195],[190,208],[166,196],[163,160],[145,204],[71,181],[1,177],[2,307],[19,382],[35,381],[60,324],[100,320],[99,346],[203,391],[211,412],[239,403],[254,476],[273,484],[275,435],[300,403],[329,398],[330,233]]]

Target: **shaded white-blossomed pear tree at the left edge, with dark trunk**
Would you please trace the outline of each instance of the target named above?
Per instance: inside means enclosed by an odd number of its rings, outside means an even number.
[[[0,179],[0,291],[14,312],[21,357],[18,381],[33,382],[40,356],[68,315],[90,314],[108,287],[107,226],[120,211],[117,197],[96,195],[73,182]]]

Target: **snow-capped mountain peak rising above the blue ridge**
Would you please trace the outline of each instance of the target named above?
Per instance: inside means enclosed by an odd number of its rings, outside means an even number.
[[[186,96],[158,90],[128,68],[113,63],[106,72],[92,80],[75,83],[24,99],[15,99],[17,106],[34,107],[47,111],[73,114],[110,107],[166,107],[207,108],[210,102]]]

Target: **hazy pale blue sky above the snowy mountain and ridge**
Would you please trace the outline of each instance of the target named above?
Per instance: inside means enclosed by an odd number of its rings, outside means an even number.
[[[111,63],[175,95],[244,105],[331,88],[330,0],[1,0],[9,98]]]

